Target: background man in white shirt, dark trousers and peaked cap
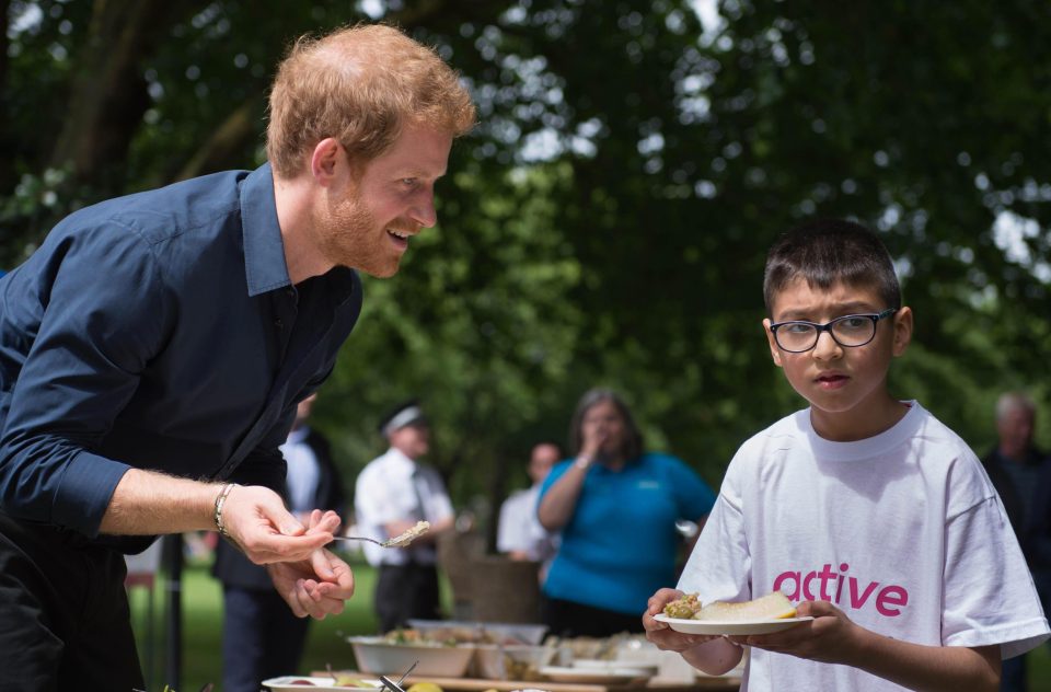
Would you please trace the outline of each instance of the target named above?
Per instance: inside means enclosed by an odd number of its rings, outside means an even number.
[[[380,431],[391,447],[361,470],[355,484],[361,535],[385,541],[417,521],[430,522],[430,530],[408,547],[365,544],[366,560],[379,567],[373,603],[380,632],[390,632],[406,626],[409,618],[441,618],[436,542],[453,528],[454,514],[441,476],[418,461],[430,449],[430,428],[419,404],[397,406]]]

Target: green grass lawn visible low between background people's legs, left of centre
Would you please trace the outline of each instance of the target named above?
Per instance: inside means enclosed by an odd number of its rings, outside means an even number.
[[[367,564],[353,563],[355,596],[347,602],[346,610],[339,615],[330,615],[322,621],[313,621],[310,638],[303,655],[301,670],[290,670],[289,674],[304,674],[311,670],[324,669],[325,664],[333,668],[353,668],[354,654],[344,636],[354,634],[374,634],[376,618],[372,614],[372,592],[376,573]],[[180,692],[197,692],[207,682],[216,683],[216,691],[222,680],[222,588],[211,577],[209,565],[190,565],[183,573],[183,669]],[[149,692],[164,689],[164,586],[158,581],[154,591],[153,639],[155,642],[152,680],[147,680]],[[131,622],[139,639],[139,655],[147,668],[145,619],[147,595],[141,589],[132,589]]]

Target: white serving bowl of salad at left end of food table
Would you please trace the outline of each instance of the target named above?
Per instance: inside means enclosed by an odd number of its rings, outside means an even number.
[[[474,656],[471,646],[394,644],[382,637],[347,637],[358,660],[358,670],[374,676],[404,673],[419,661],[413,676],[462,678]]]

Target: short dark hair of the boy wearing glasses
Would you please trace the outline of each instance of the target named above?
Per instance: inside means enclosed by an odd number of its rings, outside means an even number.
[[[766,255],[763,298],[773,316],[774,298],[795,279],[810,286],[874,287],[887,308],[901,307],[901,286],[887,247],[869,229],[840,219],[811,221],[786,232]]]

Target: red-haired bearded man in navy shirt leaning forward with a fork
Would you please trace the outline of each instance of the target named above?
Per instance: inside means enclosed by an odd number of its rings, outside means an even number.
[[[269,163],[81,209],[0,279],[0,689],[141,689],[123,554],[157,534],[217,530],[297,615],[343,610],[339,517],[288,511],[278,447],[474,117],[395,28],[302,39]]]

